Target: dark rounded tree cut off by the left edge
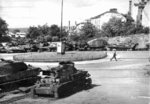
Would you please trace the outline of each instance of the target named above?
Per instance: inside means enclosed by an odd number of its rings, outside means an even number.
[[[0,18],[0,38],[7,34],[7,31],[8,31],[7,26],[8,25],[7,25],[6,21],[3,20],[2,18]]]

